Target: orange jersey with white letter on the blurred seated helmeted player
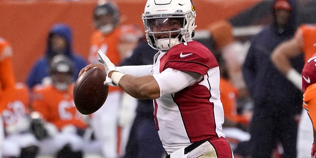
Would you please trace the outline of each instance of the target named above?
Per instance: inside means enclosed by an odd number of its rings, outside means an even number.
[[[33,110],[40,112],[46,121],[55,124],[59,130],[69,124],[86,128],[74,103],[73,85],[67,91],[59,91],[52,85],[36,86],[33,98]]]

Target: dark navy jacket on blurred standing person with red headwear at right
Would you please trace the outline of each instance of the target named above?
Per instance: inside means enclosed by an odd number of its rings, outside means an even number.
[[[292,12],[287,27],[281,31],[277,28],[273,9],[274,21],[252,38],[242,66],[247,88],[256,108],[261,109],[262,113],[280,112],[292,115],[300,113],[302,109],[301,91],[276,69],[270,59],[276,46],[292,38],[295,33],[296,5],[294,0],[289,2]],[[303,56],[292,60],[292,65],[298,72],[303,69],[303,61]]]

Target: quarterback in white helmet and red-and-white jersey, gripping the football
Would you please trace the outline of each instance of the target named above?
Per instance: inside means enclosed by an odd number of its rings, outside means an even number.
[[[154,100],[156,128],[167,158],[233,158],[222,132],[218,63],[192,40],[196,11],[192,0],[148,0],[142,15],[148,44],[158,53],[153,65],[115,67],[99,51],[105,84],[118,85],[138,99]]]

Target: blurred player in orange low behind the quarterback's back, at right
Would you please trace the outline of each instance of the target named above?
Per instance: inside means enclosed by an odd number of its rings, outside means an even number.
[[[216,54],[216,53],[215,53]],[[252,117],[252,111],[248,110],[243,113],[237,112],[238,89],[230,80],[230,74],[226,60],[218,53],[217,61],[220,68],[220,86],[221,101],[224,108],[225,122],[223,132],[226,139],[229,140],[233,151],[239,142],[248,141],[250,134],[248,132],[249,121]]]

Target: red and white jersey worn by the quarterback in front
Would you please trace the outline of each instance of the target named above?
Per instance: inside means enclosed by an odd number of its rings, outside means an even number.
[[[173,46],[155,55],[153,75],[167,68],[200,74],[201,81],[154,100],[158,134],[167,153],[191,142],[224,137],[224,111],[220,100],[220,74],[212,52],[197,41]],[[173,80],[173,79],[170,79]]]

